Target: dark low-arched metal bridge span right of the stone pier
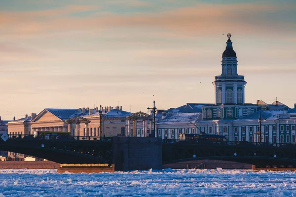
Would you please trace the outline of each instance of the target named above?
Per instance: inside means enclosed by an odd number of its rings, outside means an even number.
[[[296,166],[296,146],[205,145],[163,143],[162,164],[194,160],[223,160],[258,166]]]

